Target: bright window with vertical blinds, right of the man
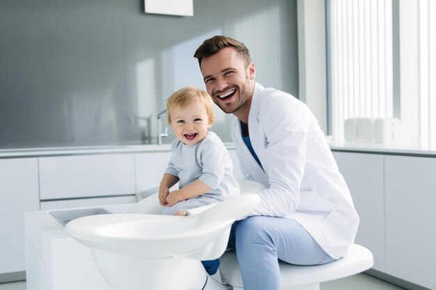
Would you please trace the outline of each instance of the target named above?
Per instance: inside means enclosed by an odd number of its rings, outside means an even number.
[[[403,145],[436,150],[436,1],[329,0],[327,13],[334,140],[348,118],[397,118]]]

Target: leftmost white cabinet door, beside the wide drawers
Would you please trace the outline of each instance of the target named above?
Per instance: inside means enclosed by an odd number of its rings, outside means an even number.
[[[38,159],[0,159],[0,273],[25,270],[24,211],[38,209]]]

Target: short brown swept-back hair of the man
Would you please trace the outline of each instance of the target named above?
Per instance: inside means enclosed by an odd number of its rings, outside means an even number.
[[[203,44],[200,45],[195,51],[194,58],[197,58],[198,65],[201,65],[203,58],[212,56],[225,47],[234,47],[240,56],[244,58],[245,65],[249,65],[249,63],[251,63],[251,58],[247,47],[242,42],[224,35],[215,35],[213,38],[205,40]]]

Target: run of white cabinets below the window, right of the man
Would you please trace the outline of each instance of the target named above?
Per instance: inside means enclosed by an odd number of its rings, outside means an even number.
[[[334,152],[374,269],[436,289],[436,158]]]

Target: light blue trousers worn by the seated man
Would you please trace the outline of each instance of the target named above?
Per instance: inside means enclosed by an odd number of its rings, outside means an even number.
[[[299,223],[251,216],[232,225],[228,248],[236,248],[244,290],[279,290],[279,260],[297,265],[334,261]]]

